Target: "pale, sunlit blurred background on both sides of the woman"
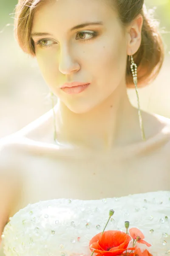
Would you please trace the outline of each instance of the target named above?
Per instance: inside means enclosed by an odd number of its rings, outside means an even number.
[[[51,109],[49,90],[35,59],[22,52],[14,39],[17,0],[0,0],[0,138],[11,134]],[[157,79],[139,89],[141,108],[170,118],[170,0],[145,0],[160,22],[165,60]],[[137,107],[135,90],[129,89]],[[55,99],[57,102],[57,99]]]

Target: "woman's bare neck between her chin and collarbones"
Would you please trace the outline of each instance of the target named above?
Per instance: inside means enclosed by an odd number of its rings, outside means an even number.
[[[86,113],[74,113],[60,101],[56,107],[59,143],[107,151],[142,140],[138,111],[130,104],[125,87],[118,87]]]

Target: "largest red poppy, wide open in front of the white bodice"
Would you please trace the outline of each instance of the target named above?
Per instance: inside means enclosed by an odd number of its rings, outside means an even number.
[[[129,235],[118,230],[108,230],[94,236],[89,245],[91,251],[98,253],[97,256],[119,256],[125,250],[129,242],[132,240]],[[128,250],[134,250],[135,248],[128,248]]]

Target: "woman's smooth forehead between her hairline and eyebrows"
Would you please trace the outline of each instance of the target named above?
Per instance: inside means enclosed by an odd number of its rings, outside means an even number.
[[[110,0],[53,0],[37,8],[32,30],[70,29],[78,23],[114,22],[118,15],[111,8]]]

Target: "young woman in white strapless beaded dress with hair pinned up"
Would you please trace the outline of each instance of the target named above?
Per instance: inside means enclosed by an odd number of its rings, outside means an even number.
[[[5,255],[91,255],[109,209],[108,230],[130,221],[150,253],[170,254],[170,121],[140,110],[137,91],[164,59],[144,0],[19,0],[15,11],[17,41],[58,101],[1,139]]]

